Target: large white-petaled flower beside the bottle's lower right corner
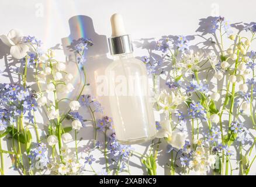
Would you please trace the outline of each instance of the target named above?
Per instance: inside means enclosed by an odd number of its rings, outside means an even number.
[[[160,122],[161,129],[157,132],[157,138],[165,138],[167,143],[180,150],[185,145],[186,134],[178,131],[172,131],[169,120]]]

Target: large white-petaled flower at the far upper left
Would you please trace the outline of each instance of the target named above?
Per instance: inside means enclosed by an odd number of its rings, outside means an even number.
[[[22,38],[22,33],[15,29],[12,29],[7,36],[4,34],[0,36],[0,39],[11,47],[10,54],[16,59],[24,58],[29,51],[29,46],[22,42]]]

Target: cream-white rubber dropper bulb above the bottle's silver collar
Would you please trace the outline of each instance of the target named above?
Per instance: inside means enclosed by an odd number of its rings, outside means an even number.
[[[112,37],[123,36],[126,34],[123,25],[123,18],[119,13],[113,14],[110,21],[112,26]]]

